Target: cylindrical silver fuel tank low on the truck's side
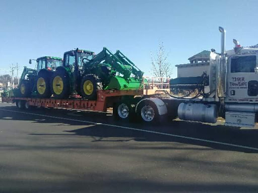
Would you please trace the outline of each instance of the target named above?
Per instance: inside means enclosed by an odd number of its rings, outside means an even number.
[[[181,103],[178,107],[178,118],[185,121],[216,123],[218,111],[216,105]]]

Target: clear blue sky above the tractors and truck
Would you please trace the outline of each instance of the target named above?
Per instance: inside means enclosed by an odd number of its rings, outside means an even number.
[[[241,45],[258,43],[258,1],[5,1],[0,0],[0,74],[16,63],[34,67],[30,58],[62,57],[63,52],[103,47],[119,49],[150,75],[151,55],[159,42],[172,66],[215,48],[218,27],[226,29],[226,49],[232,39]],[[176,77],[173,67],[171,77]]]

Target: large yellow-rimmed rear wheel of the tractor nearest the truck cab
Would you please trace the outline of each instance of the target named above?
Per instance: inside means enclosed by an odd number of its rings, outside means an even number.
[[[66,99],[70,94],[70,82],[68,73],[57,70],[51,78],[51,92],[56,99]]]

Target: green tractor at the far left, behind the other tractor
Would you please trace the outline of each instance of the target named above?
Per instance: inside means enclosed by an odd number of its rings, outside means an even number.
[[[29,63],[32,63],[30,59]],[[50,78],[53,71],[62,65],[62,58],[44,56],[36,59],[36,68],[24,66],[19,84],[19,96],[49,98]]]

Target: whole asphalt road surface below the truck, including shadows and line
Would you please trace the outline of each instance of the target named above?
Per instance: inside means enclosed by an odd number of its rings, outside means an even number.
[[[0,103],[0,192],[257,192],[258,127]]]

